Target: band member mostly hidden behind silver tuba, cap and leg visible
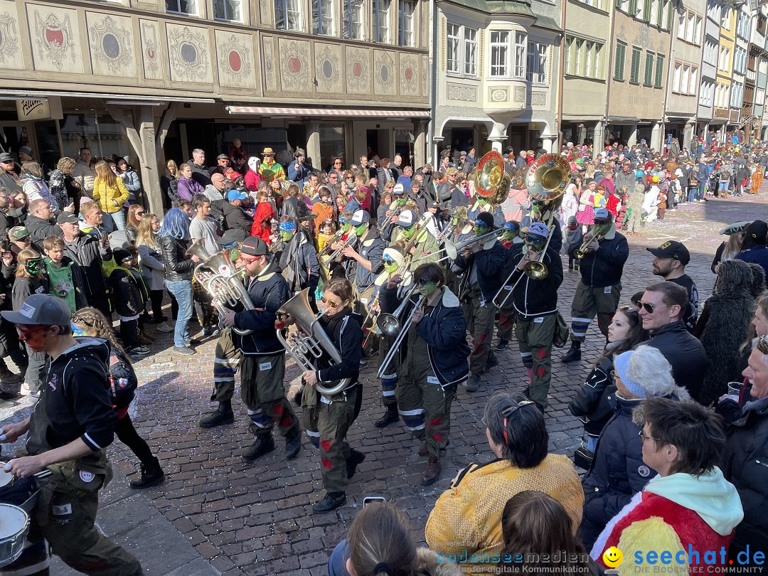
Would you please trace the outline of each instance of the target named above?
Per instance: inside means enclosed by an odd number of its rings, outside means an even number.
[[[218,244],[222,250],[233,249],[237,255],[240,243],[248,237],[243,230],[227,230],[219,238]],[[237,260],[237,257],[234,258]],[[232,412],[232,396],[235,390],[235,372],[240,366],[240,348],[234,343],[232,329],[224,326],[216,341],[214,353],[214,393],[210,396],[211,402],[218,402],[216,412],[211,412],[200,419],[200,428],[214,428],[235,421]]]

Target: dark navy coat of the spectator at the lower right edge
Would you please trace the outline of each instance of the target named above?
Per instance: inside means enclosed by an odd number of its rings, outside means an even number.
[[[730,557],[736,558],[747,546],[763,550],[768,541],[768,399],[748,402],[726,434],[723,474],[736,486],[744,509],[730,547]]]

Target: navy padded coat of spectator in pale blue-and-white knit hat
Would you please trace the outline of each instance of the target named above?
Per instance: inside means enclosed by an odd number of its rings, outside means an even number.
[[[676,387],[667,398],[690,399]],[[615,392],[607,396],[614,415],[601,432],[592,466],[584,477],[584,518],[579,535],[589,549],[605,525],[641,492],[656,471],[643,462],[643,445],[638,432],[643,428],[644,399],[627,400]]]

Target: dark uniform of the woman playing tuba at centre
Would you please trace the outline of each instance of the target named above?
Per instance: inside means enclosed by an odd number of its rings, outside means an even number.
[[[351,290],[350,290],[351,292]],[[326,290],[326,294],[327,294]],[[313,506],[316,512],[330,511],[346,502],[346,486],[356,465],[365,458],[352,450],[345,440],[346,432],[360,413],[362,386],[358,381],[362,358],[362,316],[353,312],[350,302],[333,316],[319,320],[320,327],[339,351],[342,362],[331,363],[327,353],[316,361],[317,382],[330,387],[330,382],[349,378],[349,385],[332,398],[320,394],[315,386],[305,386],[302,396],[304,427],[315,448],[319,448],[320,470],[326,497]]]

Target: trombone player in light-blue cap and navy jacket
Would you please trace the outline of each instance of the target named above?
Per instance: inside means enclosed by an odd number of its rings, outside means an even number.
[[[526,396],[542,410],[549,403],[547,396],[552,370],[552,341],[558,319],[558,290],[563,283],[563,263],[551,243],[543,260],[540,258],[548,235],[549,229],[545,223],[531,223],[525,235],[525,244],[514,244],[511,247],[510,258],[515,268],[509,276],[509,286],[505,286],[512,290],[509,300],[515,308],[515,336],[520,346],[523,366],[528,370]],[[547,275],[540,278],[526,275],[525,266],[531,262],[543,263]],[[508,294],[507,290],[502,294]]]

